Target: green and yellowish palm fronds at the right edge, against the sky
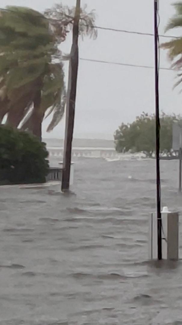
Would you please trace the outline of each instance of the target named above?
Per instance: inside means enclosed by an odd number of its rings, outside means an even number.
[[[169,20],[165,32],[182,27],[182,2],[173,4],[175,7],[175,15]],[[182,68],[182,37],[177,37],[169,42],[161,45],[163,49],[168,51],[168,58],[172,62],[172,68],[181,70]],[[175,83],[174,88],[182,83],[182,73],[177,73],[178,81]]]

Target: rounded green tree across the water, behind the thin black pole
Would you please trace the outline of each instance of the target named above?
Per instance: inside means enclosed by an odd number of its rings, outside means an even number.
[[[180,116],[160,116],[160,153],[161,155],[173,155],[173,122],[181,119]],[[117,152],[143,152],[147,157],[155,154],[155,115],[143,112],[136,117],[133,123],[122,123],[114,134],[115,149]]]

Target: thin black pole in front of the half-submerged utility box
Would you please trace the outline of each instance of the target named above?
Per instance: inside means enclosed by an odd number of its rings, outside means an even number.
[[[156,115],[156,183],[157,183],[157,229],[158,260],[162,260],[162,219],[160,180],[160,115],[159,115],[159,66],[158,66],[158,0],[154,0],[154,41],[155,41],[155,115]]]

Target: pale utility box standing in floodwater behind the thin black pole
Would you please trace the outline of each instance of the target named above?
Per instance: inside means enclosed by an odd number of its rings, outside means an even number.
[[[162,259],[175,260],[179,258],[179,214],[171,213],[163,207],[162,217]],[[157,260],[157,216],[149,216],[149,260]]]

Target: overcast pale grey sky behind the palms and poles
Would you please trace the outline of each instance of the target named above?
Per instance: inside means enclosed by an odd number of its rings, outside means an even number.
[[[56,0],[1,0],[1,6],[29,6],[44,11]],[[76,0],[62,0],[73,6]],[[159,0],[160,28],[164,27],[174,9],[172,0]],[[95,9],[98,26],[137,32],[153,32],[153,0],[81,0],[88,10]],[[178,31],[169,32],[176,35]],[[182,34],[182,31],[181,31]],[[161,42],[165,41],[161,38]],[[154,65],[153,37],[98,30],[96,41],[80,40],[80,57],[121,63]],[[62,43],[62,51],[70,51],[71,37]],[[169,67],[166,52],[161,50],[161,67]],[[67,78],[68,64],[65,64]],[[160,109],[166,113],[182,112],[182,95],[172,90],[175,72],[160,71]],[[142,111],[154,112],[154,70],[79,62],[75,116],[75,137],[112,138],[122,122],[132,122]],[[63,137],[62,122],[51,133],[46,133],[48,120],[43,124],[43,137]]]

